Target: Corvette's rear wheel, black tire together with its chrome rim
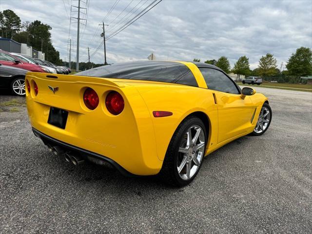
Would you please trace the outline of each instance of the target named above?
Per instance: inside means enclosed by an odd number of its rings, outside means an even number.
[[[202,120],[191,116],[184,119],[173,135],[159,175],[175,187],[192,182],[205,156],[206,128]]]

